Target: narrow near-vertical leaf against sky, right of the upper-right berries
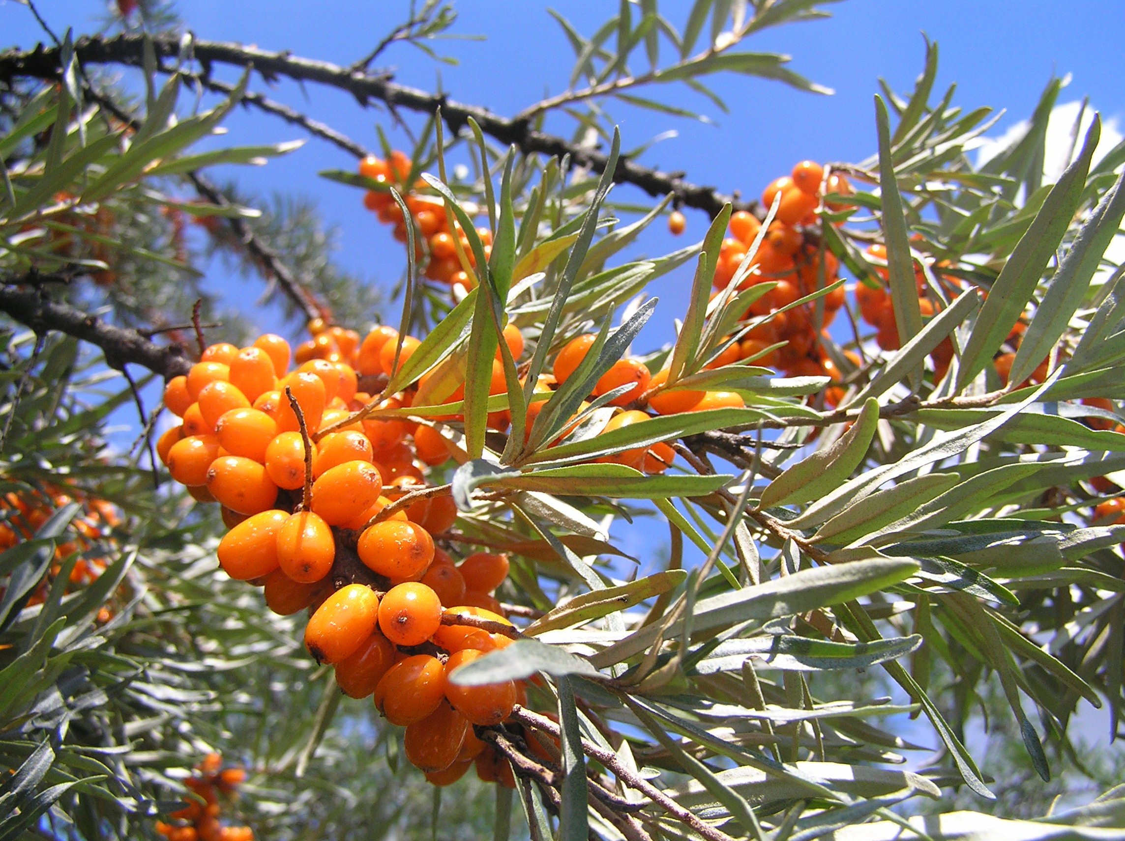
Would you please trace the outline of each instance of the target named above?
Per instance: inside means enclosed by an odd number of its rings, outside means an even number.
[[[899,344],[906,345],[921,331],[921,308],[918,304],[918,287],[914,277],[914,259],[910,256],[910,236],[907,219],[902,214],[902,197],[894,177],[894,161],[891,157],[891,128],[886,105],[882,97],[875,97],[875,126],[879,129],[879,192],[883,200],[883,237],[886,241],[886,270],[890,273],[891,304],[899,328]],[[916,364],[908,372],[911,389],[921,382],[921,365]]]

